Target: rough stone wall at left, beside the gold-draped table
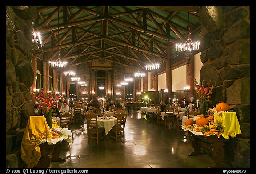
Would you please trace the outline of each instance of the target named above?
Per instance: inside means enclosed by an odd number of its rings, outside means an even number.
[[[5,132],[6,167],[24,168],[20,143],[28,122],[34,114],[29,88],[34,81],[32,70],[32,19],[36,6],[6,6],[5,29]]]

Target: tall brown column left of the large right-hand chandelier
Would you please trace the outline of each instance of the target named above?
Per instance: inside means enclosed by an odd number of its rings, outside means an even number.
[[[166,88],[168,89],[168,93],[166,93],[166,97],[169,101],[169,98],[171,100],[173,99],[172,97],[172,59],[171,59],[171,44],[167,43],[167,61],[166,61]]]

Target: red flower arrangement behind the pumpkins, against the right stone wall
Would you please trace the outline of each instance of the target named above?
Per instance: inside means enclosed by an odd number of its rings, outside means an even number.
[[[208,101],[208,99],[211,98],[212,89],[215,88],[215,84],[213,86],[210,86],[211,81],[208,81],[206,86],[203,85],[203,82],[204,82],[204,80],[199,85],[195,79],[196,92],[199,95],[201,104],[204,104],[205,101]]]

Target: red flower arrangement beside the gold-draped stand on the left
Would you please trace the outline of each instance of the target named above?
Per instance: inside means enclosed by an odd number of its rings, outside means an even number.
[[[57,101],[63,97],[61,94],[55,95],[55,90],[51,89],[47,93],[44,89],[41,92],[32,93],[32,97],[35,97],[36,101],[39,103],[39,108],[41,108],[46,116],[52,115],[53,108],[56,107]]]

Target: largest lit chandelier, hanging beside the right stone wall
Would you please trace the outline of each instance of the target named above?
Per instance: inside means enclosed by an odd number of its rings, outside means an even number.
[[[189,23],[189,13],[188,13],[188,23]],[[199,42],[195,41],[193,42],[190,39],[190,27],[188,26],[188,39],[186,40],[185,43],[179,43],[176,44],[176,53],[178,54],[183,54],[186,57],[191,57],[192,55],[198,53],[199,51]]]

